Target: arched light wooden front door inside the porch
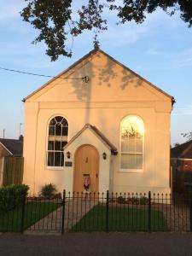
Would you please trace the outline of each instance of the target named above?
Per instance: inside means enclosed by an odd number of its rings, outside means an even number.
[[[73,190],[84,191],[84,177],[90,177],[90,192],[98,192],[99,154],[90,145],[81,146],[75,154]]]

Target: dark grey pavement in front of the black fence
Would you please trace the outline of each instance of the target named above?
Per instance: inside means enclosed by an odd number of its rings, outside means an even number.
[[[0,235],[1,256],[192,256],[192,233]]]

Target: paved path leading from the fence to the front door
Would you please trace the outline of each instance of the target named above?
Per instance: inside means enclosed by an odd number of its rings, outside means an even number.
[[[94,207],[92,200],[70,200],[66,202],[64,230],[70,230],[86,212],[89,212]],[[40,219],[36,224],[33,224],[25,231],[25,234],[32,233],[53,233],[61,234],[61,207],[57,208],[54,212],[49,213],[45,218]]]

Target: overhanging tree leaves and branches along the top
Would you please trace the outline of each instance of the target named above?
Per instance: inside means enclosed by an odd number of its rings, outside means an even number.
[[[21,17],[38,29],[39,35],[32,42],[44,41],[47,45],[46,54],[51,61],[60,55],[71,57],[72,49],[67,48],[67,38],[78,37],[85,30],[95,32],[94,45],[98,47],[97,35],[108,29],[107,20],[102,17],[103,10],[116,10],[120,23],[134,20],[142,23],[146,14],[156,9],[163,9],[167,14],[174,15],[180,11],[181,19],[192,26],[191,0],[82,0],[77,20],[73,20],[72,3],[75,0],[26,0],[27,6],[20,12]]]

